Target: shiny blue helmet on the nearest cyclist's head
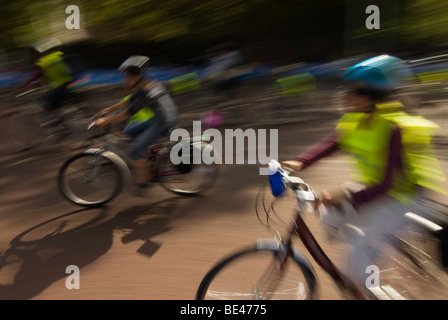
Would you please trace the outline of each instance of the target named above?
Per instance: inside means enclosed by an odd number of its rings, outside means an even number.
[[[403,60],[384,54],[350,67],[343,79],[365,89],[393,90],[411,74]]]

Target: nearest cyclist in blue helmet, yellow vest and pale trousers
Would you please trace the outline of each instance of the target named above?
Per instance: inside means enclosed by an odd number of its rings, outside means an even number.
[[[325,207],[320,206],[320,211],[322,221],[343,231],[353,244],[348,271],[358,281],[366,279],[374,253],[372,241],[398,228],[405,213],[418,209],[426,191],[447,194],[443,171],[431,148],[437,126],[408,115],[393,98],[408,75],[405,62],[389,55],[349,68],[344,74],[350,88],[349,110],[336,129],[296,159],[282,162],[302,170],[336,150],[355,159],[356,183],[321,191]]]

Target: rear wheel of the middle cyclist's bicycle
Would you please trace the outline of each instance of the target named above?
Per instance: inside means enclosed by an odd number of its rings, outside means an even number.
[[[193,148],[198,148],[195,143],[191,144]],[[201,142],[202,151],[210,145]],[[216,164],[192,164],[187,173],[182,173],[176,165],[172,164],[169,153],[160,156],[155,165],[159,174],[167,171],[178,172],[167,177],[160,178],[160,184],[168,191],[181,196],[195,196],[208,190],[213,186],[218,177],[218,166]]]

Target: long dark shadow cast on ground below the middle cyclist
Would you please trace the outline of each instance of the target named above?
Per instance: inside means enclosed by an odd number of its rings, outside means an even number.
[[[79,269],[86,267],[108,252],[116,230],[124,233],[123,244],[143,240],[137,252],[150,258],[162,246],[151,238],[170,230],[179,201],[173,197],[114,216],[107,208],[82,209],[29,228],[0,254],[0,299],[31,299],[67,277],[65,270],[73,261]]]

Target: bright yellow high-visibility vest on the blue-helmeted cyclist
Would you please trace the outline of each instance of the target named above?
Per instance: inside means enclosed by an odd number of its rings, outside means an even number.
[[[431,143],[438,126],[423,117],[411,116],[397,106],[396,103],[377,105],[372,115],[353,112],[339,120],[338,142],[342,150],[355,158],[356,178],[366,185],[384,179],[392,124],[396,124],[402,135],[403,169],[394,172],[387,194],[403,203],[411,199],[417,186],[448,195],[445,175]]]

